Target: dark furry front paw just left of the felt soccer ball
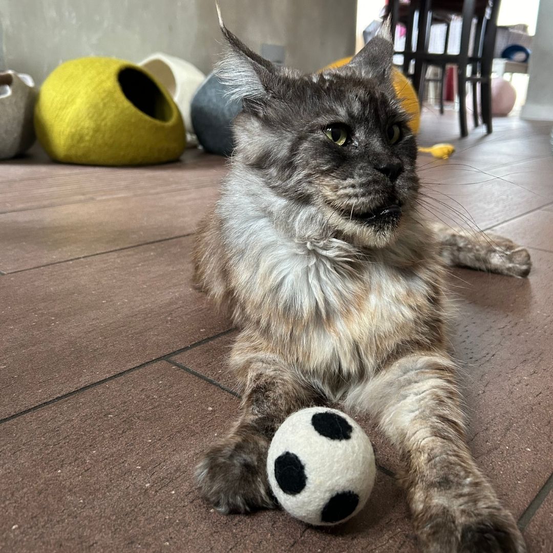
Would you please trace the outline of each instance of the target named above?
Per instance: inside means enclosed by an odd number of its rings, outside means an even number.
[[[204,498],[220,513],[276,507],[267,479],[268,440],[249,432],[213,445],[196,467]]]

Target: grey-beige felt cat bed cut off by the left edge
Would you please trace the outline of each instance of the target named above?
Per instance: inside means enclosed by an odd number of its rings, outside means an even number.
[[[33,145],[35,96],[29,75],[0,72],[0,159],[13,158]]]

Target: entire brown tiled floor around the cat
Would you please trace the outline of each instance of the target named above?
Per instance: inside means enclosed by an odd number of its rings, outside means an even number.
[[[457,153],[419,163],[432,216],[533,255],[527,280],[456,270],[451,285],[471,448],[534,553],[553,551],[550,130],[511,117],[461,140],[455,114],[426,111],[420,143]],[[198,497],[192,469],[238,406],[234,331],[192,289],[189,255],[225,171],[194,152],[153,168],[0,165],[2,552],[416,551],[397,458],[370,421],[382,469],[342,528],[222,517]]]

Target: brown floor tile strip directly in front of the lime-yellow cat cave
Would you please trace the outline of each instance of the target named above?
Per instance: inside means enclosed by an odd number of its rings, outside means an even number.
[[[177,163],[145,167],[90,167],[10,160],[0,165],[0,213],[191,190],[217,183],[226,172],[225,158],[190,150]],[[153,201],[151,197],[150,201]]]

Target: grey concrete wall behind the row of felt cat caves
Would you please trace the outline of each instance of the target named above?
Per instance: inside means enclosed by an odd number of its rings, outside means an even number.
[[[356,0],[220,0],[229,29],[254,50],[284,45],[286,65],[314,71],[351,55]],[[0,60],[41,82],[87,55],[138,62],[162,51],[208,72],[222,49],[213,0],[0,0]]]

